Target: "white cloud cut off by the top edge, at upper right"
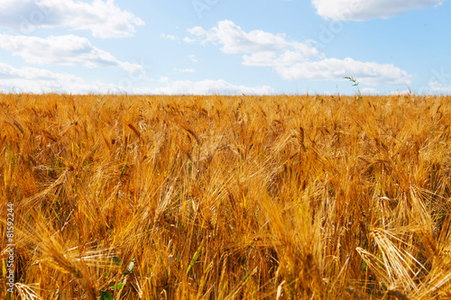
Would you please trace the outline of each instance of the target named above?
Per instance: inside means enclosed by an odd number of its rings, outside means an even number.
[[[445,0],[312,0],[317,13],[332,20],[366,21],[390,18],[413,9],[441,5]]]

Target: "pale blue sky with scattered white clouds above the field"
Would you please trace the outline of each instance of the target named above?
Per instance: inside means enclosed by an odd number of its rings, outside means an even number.
[[[0,92],[450,94],[443,0],[0,0]]]

